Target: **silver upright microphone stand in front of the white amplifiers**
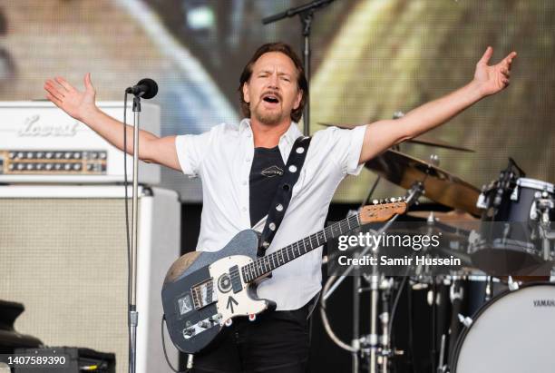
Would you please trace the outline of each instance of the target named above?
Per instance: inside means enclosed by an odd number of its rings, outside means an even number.
[[[139,190],[139,117],[141,113],[141,94],[133,97],[133,194],[131,212],[131,301],[129,305],[130,318],[130,357],[129,371],[135,373],[137,359],[137,325],[139,324],[139,312],[137,311],[137,248],[139,240],[138,230],[138,190]],[[127,109],[127,108],[126,108]],[[127,201],[125,201],[127,203]]]

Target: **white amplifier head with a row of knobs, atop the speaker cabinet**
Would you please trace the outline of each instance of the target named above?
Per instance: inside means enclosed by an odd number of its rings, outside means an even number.
[[[123,103],[97,105],[113,118],[123,120]],[[127,123],[132,124],[131,103],[126,113]],[[54,103],[0,102],[0,123],[0,182],[123,182],[123,152]],[[157,105],[141,103],[140,128],[160,134]],[[133,141],[132,136],[128,141]],[[160,183],[159,165],[139,165],[139,182]],[[131,156],[127,157],[127,172],[131,180]]]

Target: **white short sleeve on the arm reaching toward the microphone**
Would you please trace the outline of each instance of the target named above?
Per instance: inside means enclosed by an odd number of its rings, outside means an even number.
[[[183,173],[190,176],[199,175],[202,160],[209,150],[212,133],[213,131],[209,131],[200,134],[176,136],[175,148]]]

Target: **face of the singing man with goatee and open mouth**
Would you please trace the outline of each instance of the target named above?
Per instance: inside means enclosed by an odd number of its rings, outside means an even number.
[[[297,68],[280,52],[262,54],[243,84],[243,96],[250,114],[259,122],[272,125],[290,118],[297,109],[302,92],[297,85]]]

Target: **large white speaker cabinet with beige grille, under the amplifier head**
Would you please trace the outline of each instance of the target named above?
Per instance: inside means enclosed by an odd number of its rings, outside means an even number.
[[[129,196],[131,213],[131,188]],[[137,372],[170,372],[161,287],[180,256],[180,202],[160,188],[141,188],[139,196]],[[113,352],[116,371],[127,372],[124,217],[122,186],[0,186],[0,298],[24,304],[18,332],[46,346]]]

